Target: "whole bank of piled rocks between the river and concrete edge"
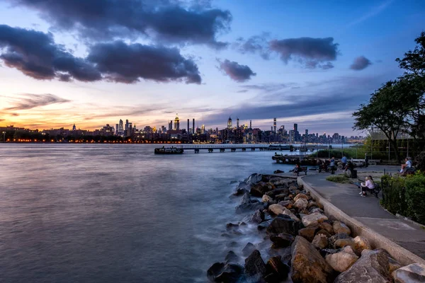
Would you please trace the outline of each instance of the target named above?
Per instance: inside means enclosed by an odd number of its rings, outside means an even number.
[[[402,267],[366,238],[353,237],[294,178],[254,173],[234,196],[240,197],[236,213],[248,214],[227,224],[222,236],[254,225],[263,241],[229,250],[208,269],[210,282],[425,282],[425,266]]]

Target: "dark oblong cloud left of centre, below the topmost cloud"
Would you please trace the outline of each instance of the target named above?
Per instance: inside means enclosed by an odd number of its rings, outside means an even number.
[[[134,83],[140,78],[154,81],[200,83],[198,67],[181,56],[177,48],[127,45],[122,41],[99,43],[90,48],[89,62],[96,64],[108,80]]]

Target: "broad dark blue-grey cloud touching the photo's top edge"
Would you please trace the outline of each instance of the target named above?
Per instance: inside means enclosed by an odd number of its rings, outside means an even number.
[[[164,42],[225,47],[217,34],[229,30],[229,11],[180,1],[8,0],[40,13],[58,30],[77,30],[92,39],[147,35]]]

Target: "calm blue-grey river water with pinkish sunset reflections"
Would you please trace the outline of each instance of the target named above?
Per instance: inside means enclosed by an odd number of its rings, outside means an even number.
[[[0,144],[0,282],[206,282],[228,250],[262,241],[251,226],[222,236],[243,217],[231,182],[293,166],[271,151],[153,151]]]

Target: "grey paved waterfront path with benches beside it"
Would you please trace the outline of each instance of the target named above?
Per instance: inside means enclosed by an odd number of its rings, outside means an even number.
[[[359,169],[358,173],[377,173],[380,171],[383,173],[384,168],[387,172],[397,172],[395,166],[369,166],[368,168]],[[424,228],[398,219],[396,216],[390,214],[390,212],[382,209],[379,199],[373,195],[361,197],[358,195],[360,189],[356,185],[329,182],[326,180],[328,175],[329,173],[311,175],[309,173],[302,180],[349,216],[365,224],[370,229],[377,231],[382,236],[389,238],[399,244],[399,246],[425,259]]]

